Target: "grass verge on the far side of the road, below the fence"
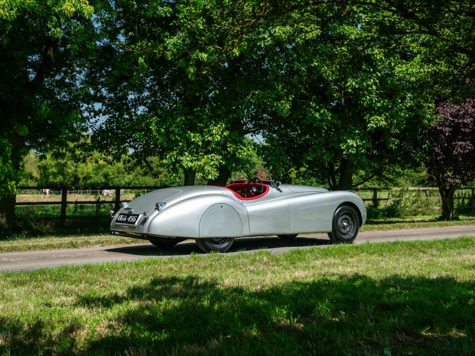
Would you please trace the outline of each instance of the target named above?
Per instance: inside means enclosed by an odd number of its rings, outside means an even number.
[[[386,218],[368,220],[361,231],[391,230],[402,228],[441,227],[454,225],[475,225],[475,216],[461,216],[458,221],[436,221],[435,216],[418,216],[407,218]],[[93,246],[112,246],[148,243],[147,241],[128,237],[112,236],[107,232],[108,220],[89,222],[70,222],[65,229],[51,229],[54,232],[17,234],[0,239],[0,253],[19,251],[39,251],[69,249]]]

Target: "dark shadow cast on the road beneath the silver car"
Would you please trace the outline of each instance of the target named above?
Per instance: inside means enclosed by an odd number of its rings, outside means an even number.
[[[235,254],[239,251],[254,252],[263,249],[269,249],[271,252],[285,252],[290,249],[323,246],[329,243],[330,240],[325,238],[325,236],[322,236],[322,238],[297,237],[293,240],[282,240],[279,237],[244,237],[236,239],[227,253]],[[192,253],[201,253],[193,240],[183,241],[173,247],[159,248],[150,244],[115,247],[105,251],[138,256],[186,256]]]

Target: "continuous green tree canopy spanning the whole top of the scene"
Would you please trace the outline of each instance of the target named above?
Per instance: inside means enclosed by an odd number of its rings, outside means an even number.
[[[85,134],[95,161],[185,184],[262,160],[332,189],[415,167],[436,105],[473,97],[472,5],[1,1],[0,208],[28,152],[61,160]]]

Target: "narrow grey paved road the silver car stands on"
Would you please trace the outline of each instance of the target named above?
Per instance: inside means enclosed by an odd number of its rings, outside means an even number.
[[[355,243],[365,241],[434,240],[456,238],[462,235],[475,235],[475,225],[361,232],[355,240]],[[328,245],[329,240],[326,234],[303,235],[291,241],[281,240],[278,237],[240,238],[235,241],[229,254],[235,254],[238,251],[249,253],[259,249],[268,249],[271,253],[280,254],[293,249],[308,248],[310,246],[323,247]],[[136,261],[147,257],[187,257],[192,252],[199,252],[199,250],[194,244],[194,241],[187,240],[166,250],[158,249],[149,244],[142,244],[3,253],[0,254],[0,271],[34,270],[44,267],[88,263]]]

